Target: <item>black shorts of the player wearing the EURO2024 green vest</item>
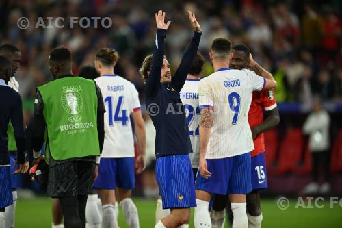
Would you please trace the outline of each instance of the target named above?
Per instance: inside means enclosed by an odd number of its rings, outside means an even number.
[[[88,195],[94,185],[96,163],[90,161],[68,161],[49,167],[49,197],[71,197]]]

